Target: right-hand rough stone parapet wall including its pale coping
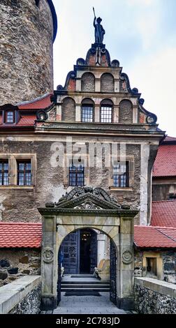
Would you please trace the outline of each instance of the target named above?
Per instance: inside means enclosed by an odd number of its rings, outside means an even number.
[[[135,311],[176,314],[176,285],[154,278],[135,278]]]

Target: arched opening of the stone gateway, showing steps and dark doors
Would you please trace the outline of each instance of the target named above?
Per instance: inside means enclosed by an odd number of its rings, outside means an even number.
[[[106,237],[101,257],[97,253],[97,248],[100,251],[103,246],[97,247],[98,233]],[[102,231],[91,228],[69,233],[58,253],[57,304],[68,295],[107,297],[107,294],[108,299],[117,305],[117,248],[114,241]]]

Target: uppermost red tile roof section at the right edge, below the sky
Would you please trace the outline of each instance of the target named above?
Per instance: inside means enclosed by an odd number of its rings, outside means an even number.
[[[154,161],[153,177],[176,176],[176,144],[162,144]]]

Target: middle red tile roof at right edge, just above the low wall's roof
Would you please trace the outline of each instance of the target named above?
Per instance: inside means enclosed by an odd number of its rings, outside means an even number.
[[[151,225],[176,228],[176,200],[152,202]]]

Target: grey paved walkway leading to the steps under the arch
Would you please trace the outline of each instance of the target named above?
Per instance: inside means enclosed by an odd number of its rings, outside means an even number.
[[[117,308],[110,299],[109,292],[100,292],[101,296],[64,296],[61,292],[59,306],[53,314],[126,314]],[[51,313],[51,311],[47,311]],[[46,313],[46,314],[47,314]]]

